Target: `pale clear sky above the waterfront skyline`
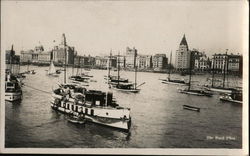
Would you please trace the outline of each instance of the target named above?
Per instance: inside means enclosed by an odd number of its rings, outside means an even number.
[[[61,42],[80,55],[124,53],[167,56],[183,35],[190,49],[248,52],[246,1],[1,1],[1,51],[45,50]],[[53,41],[56,42],[53,42]],[[173,54],[173,56],[175,56]]]

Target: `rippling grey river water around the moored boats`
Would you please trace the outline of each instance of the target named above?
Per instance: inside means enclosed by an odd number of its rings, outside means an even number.
[[[62,82],[48,77],[48,67],[30,66],[37,73],[24,79],[23,100],[5,102],[5,147],[33,148],[241,148],[242,106],[213,97],[180,94],[180,86],[162,84],[166,74],[138,72],[141,92],[123,93],[112,90],[120,106],[131,108],[129,134],[93,123],[75,125],[50,107],[51,91]],[[27,67],[21,66],[21,72]],[[76,69],[74,69],[76,72]],[[68,75],[72,69],[68,69]],[[91,89],[107,91],[105,70],[91,70],[97,82]],[[121,76],[134,80],[134,72],[121,71]],[[188,79],[188,76],[171,75]],[[193,84],[203,84],[209,75],[194,75]],[[241,79],[230,78],[231,85]],[[237,83],[236,83],[237,82]],[[31,88],[32,87],[32,88]],[[34,89],[36,88],[36,89]],[[38,90],[39,89],[39,90]],[[42,91],[44,92],[42,92]],[[200,112],[183,109],[182,105],[201,108]]]

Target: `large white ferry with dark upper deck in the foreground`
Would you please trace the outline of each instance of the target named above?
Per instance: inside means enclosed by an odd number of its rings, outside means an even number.
[[[63,85],[53,91],[52,97],[51,107],[54,110],[73,115],[84,114],[87,122],[126,132],[131,127],[130,108],[120,107],[111,92]]]

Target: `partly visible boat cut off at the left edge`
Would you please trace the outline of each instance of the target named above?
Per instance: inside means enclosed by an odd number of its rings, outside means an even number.
[[[13,75],[7,74],[5,81],[5,100],[17,101],[22,99],[21,84]]]

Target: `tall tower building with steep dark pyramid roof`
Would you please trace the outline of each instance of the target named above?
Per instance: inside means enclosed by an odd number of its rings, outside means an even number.
[[[188,70],[190,67],[191,51],[188,49],[185,34],[180,42],[179,49],[176,50],[175,67],[177,70]]]

